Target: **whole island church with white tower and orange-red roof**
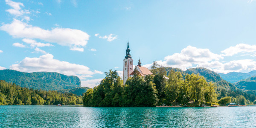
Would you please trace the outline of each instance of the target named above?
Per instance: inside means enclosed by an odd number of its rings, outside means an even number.
[[[133,69],[133,59],[131,58],[131,50],[129,49],[129,41],[127,43],[126,55],[124,61],[124,72],[123,72],[123,82],[127,81],[129,77],[132,77],[134,73]],[[138,65],[135,67],[136,70],[139,72],[140,76],[145,77],[146,75],[152,74],[150,70],[146,67],[141,66],[141,62],[139,59]]]

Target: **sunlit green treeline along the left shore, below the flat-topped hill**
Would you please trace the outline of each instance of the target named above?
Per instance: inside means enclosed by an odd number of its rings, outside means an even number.
[[[0,105],[81,105],[82,96],[34,90],[0,80]]]

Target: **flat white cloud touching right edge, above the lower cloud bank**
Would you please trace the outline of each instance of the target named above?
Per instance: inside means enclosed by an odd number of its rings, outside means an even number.
[[[256,45],[248,45],[248,44],[237,44],[235,47],[229,47],[221,53],[224,53],[223,56],[233,56],[238,53],[256,53]]]

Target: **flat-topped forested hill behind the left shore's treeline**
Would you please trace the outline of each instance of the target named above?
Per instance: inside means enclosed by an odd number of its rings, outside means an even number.
[[[15,70],[0,70],[0,80],[15,83],[20,87],[38,90],[61,90],[81,87],[77,76],[66,76],[54,72],[25,73]]]

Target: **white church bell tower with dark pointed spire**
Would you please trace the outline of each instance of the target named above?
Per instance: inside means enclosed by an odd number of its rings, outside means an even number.
[[[124,74],[123,74],[123,82],[127,81],[130,77],[130,74],[133,72],[133,59],[131,58],[131,50],[129,49],[129,41],[127,43],[126,55],[124,61]]]

